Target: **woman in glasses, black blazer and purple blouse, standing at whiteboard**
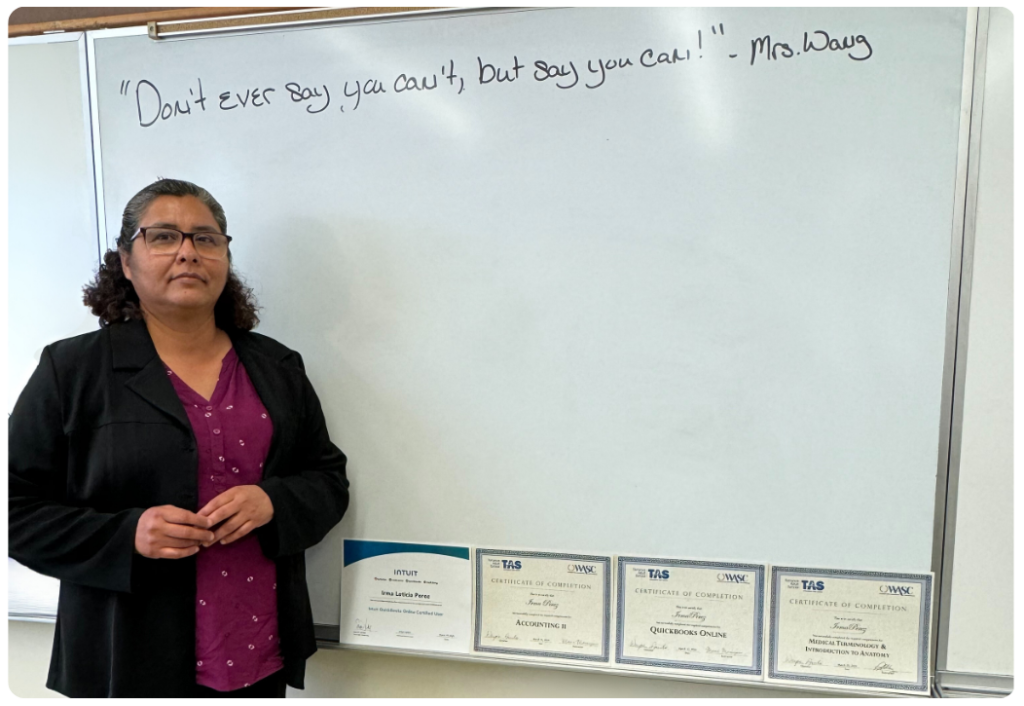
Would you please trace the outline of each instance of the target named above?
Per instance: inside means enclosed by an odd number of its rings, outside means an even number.
[[[348,506],[298,354],[252,333],[226,219],[161,180],[7,422],[7,555],[59,579],[48,686],[284,699],[316,651],[303,552]]]

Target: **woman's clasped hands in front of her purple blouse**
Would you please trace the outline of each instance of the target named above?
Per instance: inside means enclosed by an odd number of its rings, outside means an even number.
[[[272,520],[273,503],[263,489],[241,486],[198,513],[177,507],[146,510],[135,532],[135,551],[146,558],[187,558],[217,543],[233,544]]]

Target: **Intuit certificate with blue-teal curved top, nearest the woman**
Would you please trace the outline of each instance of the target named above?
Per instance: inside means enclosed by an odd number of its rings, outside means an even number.
[[[341,643],[469,652],[469,549],[345,540]]]

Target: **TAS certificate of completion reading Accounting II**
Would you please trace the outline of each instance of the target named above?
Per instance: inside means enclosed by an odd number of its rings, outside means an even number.
[[[611,558],[476,550],[480,653],[607,662]]]

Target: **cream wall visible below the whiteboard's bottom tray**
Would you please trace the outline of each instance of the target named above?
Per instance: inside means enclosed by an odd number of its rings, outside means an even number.
[[[7,691],[59,698],[45,688],[53,627],[7,623]],[[752,688],[705,687],[522,667],[325,651],[309,663],[305,692],[290,699],[817,699]]]

